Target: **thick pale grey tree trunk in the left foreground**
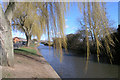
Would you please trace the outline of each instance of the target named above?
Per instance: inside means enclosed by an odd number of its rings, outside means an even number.
[[[15,4],[8,5],[6,12],[2,10],[0,4],[0,54],[2,56],[1,65],[14,66],[14,53],[12,41],[12,28],[10,26]]]

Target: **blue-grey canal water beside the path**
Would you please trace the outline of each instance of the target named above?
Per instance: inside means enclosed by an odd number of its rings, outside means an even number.
[[[86,57],[83,57],[80,52],[78,54],[68,51],[69,54],[67,54],[63,50],[63,59],[60,62],[53,47],[40,44],[38,49],[61,78],[118,78],[117,65],[97,63],[93,56],[90,57],[87,71],[85,71]]]

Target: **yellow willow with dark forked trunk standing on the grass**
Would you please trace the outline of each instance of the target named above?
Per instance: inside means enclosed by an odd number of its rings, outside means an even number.
[[[30,45],[31,37],[37,36],[40,39],[42,30],[39,22],[39,15],[34,3],[16,3],[16,11],[13,17],[13,28],[25,33],[28,47]]]

